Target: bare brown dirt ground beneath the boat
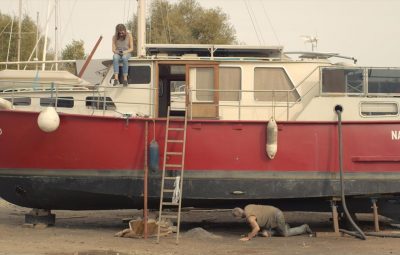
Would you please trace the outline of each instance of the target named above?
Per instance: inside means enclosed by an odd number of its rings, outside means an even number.
[[[400,254],[400,242],[393,238],[368,237],[362,241],[351,236],[335,237],[257,237],[249,242],[238,239],[248,232],[244,221],[236,221],[229,211],[185,211],[181,239],[169,235],[156,244],[156,238],[132,239],[114,237],[128,227],[122,219],[141,215],[141,211],[54,211],[56,225],[38,229],[24,227],[29,209],[0,199],[0,255],[174,255],[174,254]],[[290,225],[304,222],[314,231],[332,231],[326,213],[285,213]],[[371,229],[371,215],[359,216],[363,229]],[[381,228],[399,232],[387,219]],[[202,228],[204,231],[196,228]]]

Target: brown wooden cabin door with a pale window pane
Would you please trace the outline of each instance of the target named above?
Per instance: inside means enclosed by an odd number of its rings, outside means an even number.
[[[186,68],[189,116],[218,118],[218,65],[187,65]]]

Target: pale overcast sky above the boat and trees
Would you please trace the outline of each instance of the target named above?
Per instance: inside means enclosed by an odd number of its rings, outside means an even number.
[[[45,31],[48,1],[21,0],[22,13]],[[177,0],[171,0],[176,2]],[[0,12],[18,16],[19,0],[0,0]],[[149,5],[150,0],[147,0]],[[400,66],[400,0],[197,0],[229,16],[237,40],[246,45],[281,45],[285,51],[311,51],[302,36],[318,38],[317,51],[340,53],[363,66]],[[115,25],[136,13],[136,0],[59,0],[59,48],[83,40],[93,58],[111,58]],[[54,42],[54,14],[49,37]],[[1,28],[0,28],[1,29]],[[54,45],[51,48],[54,49]]]

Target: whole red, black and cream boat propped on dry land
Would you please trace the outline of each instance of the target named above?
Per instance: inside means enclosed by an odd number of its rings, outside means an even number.
[[[354,212],[377,200],[398,219],[399,68],[281,46],[138,48],[127,87],[113,85],[112,67],[98,85],[0,72],[2,198],[46,210],[142,209],[146,182],[157,209],[168,114],[186,112],[183,206],[329,211],[343,166]],[[151,140],[160,163],[145,179]]]

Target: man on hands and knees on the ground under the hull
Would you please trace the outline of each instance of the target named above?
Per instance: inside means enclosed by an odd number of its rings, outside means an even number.
[[[290,228],[285,222],[285,217],[281,210],[269,205],[247,205],[244,210],[236,207],[232,210],[233,216],[236,218],[246,218],[251,226],[251,232],[247,237],[243,237],[240,241],[249,241],[255,237],[260,230],[261,235],[268,237],[273,235],[295,236],[301,234],[312,234],[310,227],[303,224],[299,227]]]

